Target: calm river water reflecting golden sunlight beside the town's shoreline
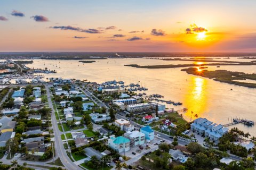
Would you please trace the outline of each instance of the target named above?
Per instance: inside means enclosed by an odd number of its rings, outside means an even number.
[[[235,57],[234,57],[235,58]],[[228,61],[250,61],[233,60]],[[213,81],[187,74],[176,69],[138,69],[124,64],[159,65],[159,64],[189,64],[188,61],[162,61],[146,58],[124,58],[96,60],[94,63],[80,63],[75,60],[34,60],[28,67],[57,70],[55,74],[46,74],[46,78],[62,77],[95,81],[98,83],[108,80],[123,80],[125,83],[140,83],[147,87],[147,95],[161,94],[166,100],[180,101],[182,106],[166,104],[168,108],[188,108],[183,113],[186,120],[206,117],[215,123],[229,123],[231,118],[240,117],[256,121],[256,89],[239,87],[232,84]],[[209,66],[209,70],[229,70],[245,73],[256,73],[256,66]],[[230,90],[233,89],[233,90]],[[191,111],[194,114],[191,114]],[[236,125],[245,132],[256,135],[256,128],[242,124]],[[231,128],[231,127],[229,127]]]

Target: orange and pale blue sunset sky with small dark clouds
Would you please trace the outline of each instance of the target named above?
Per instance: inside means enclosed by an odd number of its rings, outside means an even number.
[[[0,0],[0,52],[256,52],[255,9],[255,0]]]

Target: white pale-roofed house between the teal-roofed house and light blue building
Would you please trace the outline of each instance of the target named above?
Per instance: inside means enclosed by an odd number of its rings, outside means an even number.
[[[145,143],[145,134],[139,131],[128,131],[124,136],[130,139],[130,146],[143,145]]]

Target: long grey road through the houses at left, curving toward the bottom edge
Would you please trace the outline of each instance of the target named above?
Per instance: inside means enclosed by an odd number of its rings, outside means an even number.
[[[57,120],[55,117],[49,87],[45,86],[45,89],[47,92],[47,99],[48,99],[49,107],[52,109],[51,117],[52,117],[52,128],[54,131],[54,140],[55,140],[55,142],[54,142],[55,143],[55,154],[56,154],[56,156],[60,157],[60,160],[61,160],[62,164],[65,166],[65,168],[82,170],[81,167],[78,167],[76,164],[74,164],[72,162],[72,160],[69,159],[69,157],[66,153],[66,150],[63,146],[63,142],[60,137],[61,133],[59,131],[58,123],[57,123]]]

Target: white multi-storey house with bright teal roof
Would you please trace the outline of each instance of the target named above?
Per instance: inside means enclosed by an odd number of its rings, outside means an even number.
[[[118,152],[126,152],[130,150],[130,140],[123,136],[117,138],[110,137],[108,139],[108,146]]]

